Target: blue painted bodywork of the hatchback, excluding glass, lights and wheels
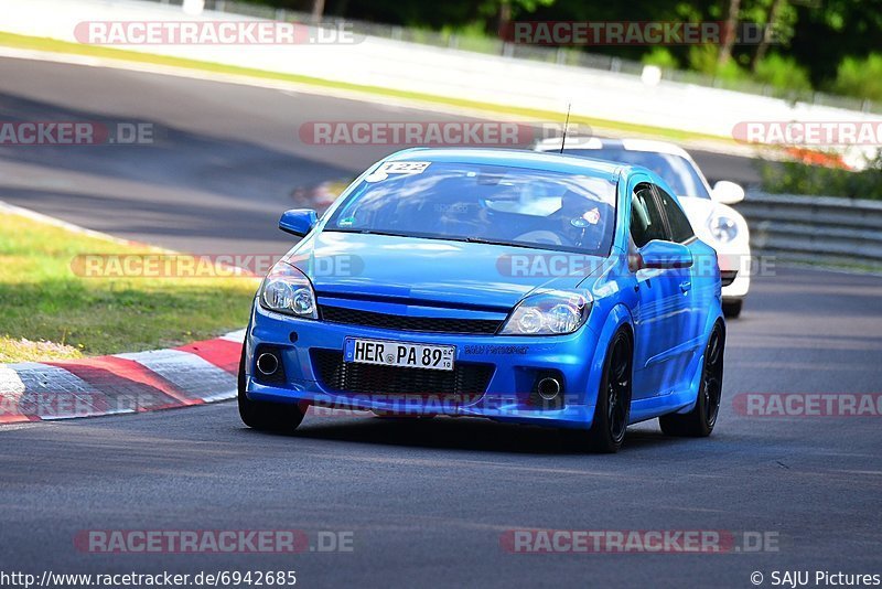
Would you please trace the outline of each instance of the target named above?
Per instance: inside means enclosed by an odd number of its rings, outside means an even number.
[[[611,251],[606,257],[592,258],[589,270],[572,276],[515,277],[499,271],[499,260],[505,256],[557,253],[322,232],[334,208],[353,188],[389,161],[465,161],[602,178],[616,186]],[[269,311],[256,301],[245,344],[248,398],[392,413],[401,411],[402,403],[407,403],[408,413],[589,428],[609,343],[619,330],[626,329],[634,344],[630,421],[690,410],[699,389],[704,345],[713,325],[723,321],[716,254],[710,246],[692,239],[685,245],[693,259],[702,264],[634,270],[628,227],[632,192],[641,182],[666,189],[660,178],[641,168],[528,151],[413,149],[378,162],[341,195],[318,226],[286,256],[311,280],[320,309],[503,322],[519,301],[538,289],[582,289],[593,297],[587,323],[566,335],[417,332],[298,319]],[[357,259],[357,271],[322,271],[327,260],[340,256]],[[711,264],[707,264],[709,259]],[[424,399],[402,401],[384,396],[383,390],[365,395],[333,389],[323,383],[316,354],[322,351],[342,354],[347,338],[454,345],[455,365],[482,366],[492,376],[482,394],[440,405]],[[284,382],[257,377],[255,350],[265,345],[279,351]],[[555,371],[562,379],[566,403],[560,407],[538,407],[530,401],[537,375],[545,371]]]

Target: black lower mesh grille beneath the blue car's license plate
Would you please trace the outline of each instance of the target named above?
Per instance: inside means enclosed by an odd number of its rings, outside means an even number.
[[[346,393],[394,396],[477,398],[493,376],[492,364],[458,362],[452,371],[402,368],[343,362],[337,350],[312,350],[312,365],[325,388]]]

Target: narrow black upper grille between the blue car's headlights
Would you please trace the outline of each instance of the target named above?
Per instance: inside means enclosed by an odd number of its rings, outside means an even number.
[[[373,311],[359,311],[327,304],[319,306],[322,320],[332,323],[348,323],[366,328],[383,328],[399,331],[422,331],[429,333],[485,333],[493,334],[502,325],[502,320],[454,319],[438,317],[406,317]]]

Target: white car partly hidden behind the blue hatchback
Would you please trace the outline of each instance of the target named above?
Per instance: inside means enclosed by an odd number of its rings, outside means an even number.
[[[560,137],[546,139],[536,151],[560,151]],[[682,148],[645,139],[567,138],[569,156],[643,165],[660,175],[677,193],[696,235],[717,250],[723,283],[723,312],[738,317],[750,289],[751,248],[747,222],[731,204],[744,199],[744,189],[721,180],[713,189]]]

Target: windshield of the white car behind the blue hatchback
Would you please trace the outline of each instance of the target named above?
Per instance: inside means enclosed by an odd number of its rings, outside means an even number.
[[[643,165],[647,170],[652,170],[660,175],[674,192],[677,193],[677,196],[710,199],[708,189],[704,182],[701,181],[696,165],[680,156],[612,147],[604,147],[601,149],[568,149],[567,153],[594,158],[596,160],[616,161],[630,165]]]

